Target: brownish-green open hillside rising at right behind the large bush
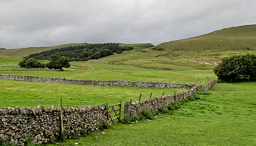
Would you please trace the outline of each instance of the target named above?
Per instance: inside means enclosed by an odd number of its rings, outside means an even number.
[[[211,64],[217,64],[224,56],[241,53],[256,53],[256,25],[225,28],[188,39],[164,42],[153,48],[108,56],[100,61],[152,69],[205,70],[212,69]]]

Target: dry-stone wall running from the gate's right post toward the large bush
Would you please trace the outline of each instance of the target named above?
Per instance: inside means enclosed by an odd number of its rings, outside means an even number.
[[[136,101],[136,102],[125,101],[124,102],[124,118],[129,118],[131,115],[137,115],[143,109],[150,110],[150,111],[157,111],[163,106],[167,107],[169,103],[188,99],[189,96],[197,92],[198,88],[208,91],[214,83],[218,83],[218,80],[215,80],[215,79],[211,80],[209,83],[207,83],[204,86],[202,84],[197,84],[191,89],[181,93],[149,98],[149,99]]]

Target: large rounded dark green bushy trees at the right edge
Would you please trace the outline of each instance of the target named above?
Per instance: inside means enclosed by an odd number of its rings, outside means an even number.
[[[213,72],[223,81],[231,81],[243,77],[256,78],[256,55],[239,54],[223,57],[222,62],[215,66]]]

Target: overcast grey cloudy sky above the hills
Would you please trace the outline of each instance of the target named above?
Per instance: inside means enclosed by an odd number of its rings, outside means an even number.
[[[0,0],[0,47],[152,43],[256,24],[255,0]]]

